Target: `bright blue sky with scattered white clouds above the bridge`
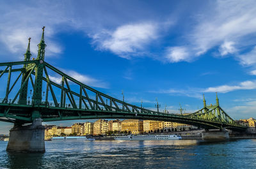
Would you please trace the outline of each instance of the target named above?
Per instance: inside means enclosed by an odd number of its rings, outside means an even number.
[[[218,92],[231,117],[255,117],[255,1],[1,1],[0,14],[1,62],[28,37],[36,57],[45,26],[45,61],[110,96],[194,112]]]

